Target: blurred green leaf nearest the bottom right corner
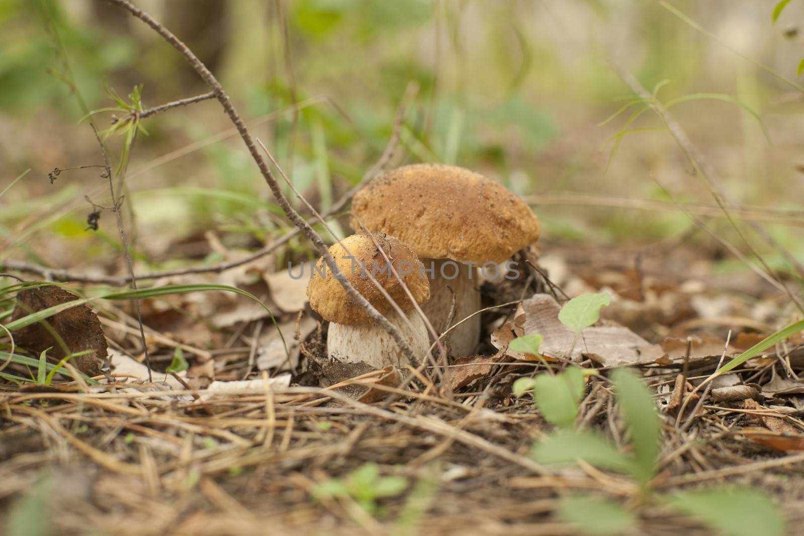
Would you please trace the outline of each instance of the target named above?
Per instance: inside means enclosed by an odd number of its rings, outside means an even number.
[[[713,488],[677,493],[667,502],[726,536],[781,536],[786,522],[767,493],[758,489]]]

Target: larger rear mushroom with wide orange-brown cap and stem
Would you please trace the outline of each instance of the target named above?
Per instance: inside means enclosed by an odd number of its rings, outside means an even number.
[[[362,223],[394,235],[420,257],[431,296],[422,309],[435,329],[446,329],[453,293],[453,325],[480,309],[477,268],[507,271],[502,264],[539,239],[539,220],[522,199],[481,174],[444,164],[404,166],[375,178],[355,194],[352,211],[355,229]],[[450,333],[453,354],[471,354],[480,315]]]

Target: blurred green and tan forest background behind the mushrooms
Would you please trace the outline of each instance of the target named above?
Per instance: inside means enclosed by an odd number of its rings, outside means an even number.
[[[772,2],[672,2],[713,36],[659,2],[135,3],[219,76],[252,133],[318,207],[333,203],[379,158],[405,88],[415,82],[419,92],[396,163],[448,162],[498,179],[533,203],[546,243],[675,240],[720,248],[671,202],[668,192],[713,204],[675,141],[656,130],[658,119],[642,114],[629,127],[638,132],[621,137],[616,153],[615,136],[630,112],[600,124],[632,96],[611,63],[649,90],[667,80],[663,101],[734,96],[759,114],[770,141],[735,104],[693,100],[673,113],[728,193],[775,211],[763,225],[804,258],[802,92],[777,77],[795,80],[804,55],[798,2],[775,24]],[[77,122],[84,113],[59,79],[68,66],[90,108],[112,105],[106,85],[126,95],[143,84],[146,108],[207,91],[158,35],[106,2],[0,0],[0,190],[31,169],[0,198],[2,257],[89,266],[119,252],[110,215],[100,231],[84,231],[84,195],[105,203],[102,179],[80,170],[52,186],[47,180],[55,167],[100,163],[91,130]],[[96,118],[101,128],[111,121],[108,113]],[[137,137],[125,174],[141,262],[165,266],[207,255],[192,244],[210,229],[229,247],[253,247],[286,228],[239,138],[224,137],[231,124],[215,101],[144,124],[150,135]],[[119,137],[109,143],[119,155]],[[611,198],[667,205],[646,211]],[[734,236],[724,219],[711,225]]]

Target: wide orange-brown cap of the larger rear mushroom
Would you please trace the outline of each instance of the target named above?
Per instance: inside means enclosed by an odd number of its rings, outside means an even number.
[[[539,220],[522,199],[445,164],[414,164],[375,178],[355,195],[352,211],[368,230],[394,235],[431,259],[502,263],[539,239]]]

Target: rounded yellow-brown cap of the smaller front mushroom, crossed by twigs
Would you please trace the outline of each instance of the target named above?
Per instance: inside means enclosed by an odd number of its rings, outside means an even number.
[[[419,270],[419,258],[411,251],[408,246],[391,236],[375,234],[375,239],[383,248],[388,259],[391,260],[396,272],[404,284],[408,286],[412,296],[417,303],[425,303],[430,297],[430,283],[426,274]],[[341,245],[343,244],[343,245]],[[351,282],[352,286],[365,297],[371,305],[382,314],[388,315],[393,309],[388,300],[379,293],[375,284],[371,282],[368,274],[373,274],[379,284],[388,295],[391,296],[396,305],[403,311],[412,309],[404,288],[396,276],[388,269],[388,263],[382,252],[379,252],[369,235],[351,235],[343,240],[341,244],[334,244],[330,248],[330,255],[333,256],[335,263],[343,275]],[[347,252],[348,250],[348,252]],[[350,255],[351,254],[351,255]],[[354,260],[351,259],[354,257]],[[354,263],[354,264],[353,264]],[[329,267],[324,271],[325,263],[323,259],[318,260],[316,270],[312,273],[310,283],[307,285],[307,297],[310,299],[310,307],[320,314],[324,320],[344,325],[366,325],[371,324],[362,307],[351,300],[346,290],[340,282],[336,280]],[[363,270],[367,272],[363,276]],[[373,271],[372,271],[373,270]],[[402,272],[408,272],[403,274]],[[321,274],[325,277],[322,277]]]

